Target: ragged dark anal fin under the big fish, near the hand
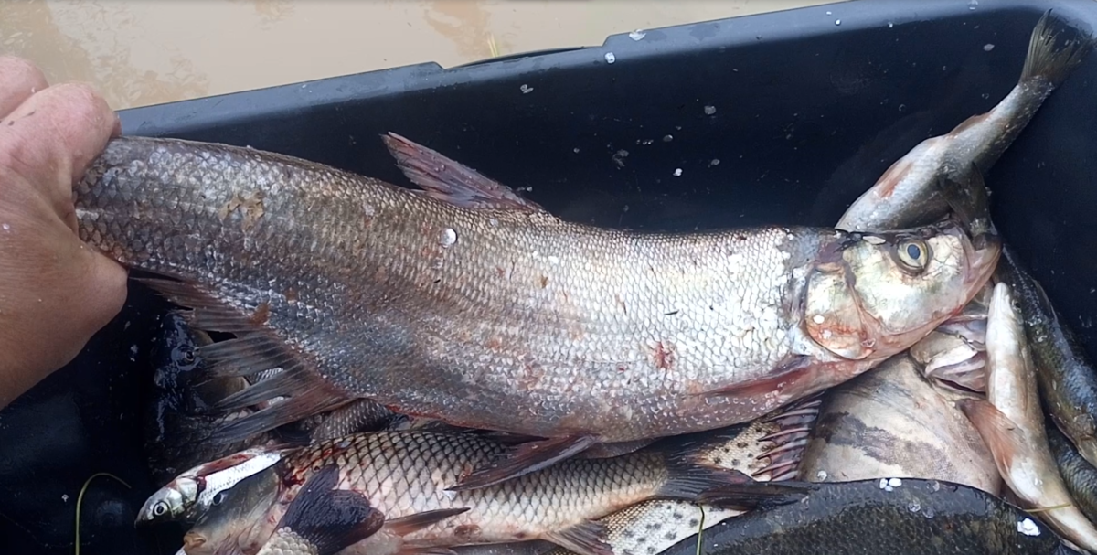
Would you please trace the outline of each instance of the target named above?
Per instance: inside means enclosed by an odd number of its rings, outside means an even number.
[[[134,280],[184,308],[183,319],[194,329],[237,336],[234,340],[197,348],[195,354],[211,364],[213,375],[251,375],[281,369],[274,376],[216,404],[215,408],[222,411],[267,406],[222,424],[214,430],[211,441],[242,441],[348,400],[346,394],[321,377],[310,356],[281,340],[272,329],[258,321],[256,315],[217,301],[195,283],[160,278],[135,276]]]

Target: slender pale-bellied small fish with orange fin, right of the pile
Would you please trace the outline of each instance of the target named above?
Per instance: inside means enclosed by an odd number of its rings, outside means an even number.
[[[986,326],[986,400],[958,405],[991,448],[1009,489],[1064,537],[1097,553],[1097,528],[1074,503],[1051,456],[1021,320],[1009,286],[995,285]]]

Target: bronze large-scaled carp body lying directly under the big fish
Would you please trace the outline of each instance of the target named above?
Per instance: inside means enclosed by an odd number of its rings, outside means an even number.
[[[462,473],[490,461],[502,449],[467,434],[376,432],[319,442],[286,457],[285,464],[294,469],[292,480],[299,484],[312,472],[335,462],[339,467],[337,487],[363,492],[388,519],[473,508],[407,536],[410,542],[442,541],[474,528],[485,540],[528,540],[574,525],[585,516],[598,517],[606,507],[649,498],[668,479],[660,455],[633,453],[613,462],[567,461],[497,486],[445,491]],[[522,524],[516,532],[516,521],[538,524]]]

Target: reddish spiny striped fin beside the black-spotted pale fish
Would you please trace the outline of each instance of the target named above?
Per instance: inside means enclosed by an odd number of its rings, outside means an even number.
[[[823,394],[819,393],[762,417],[762,421],[773,422],[780,429],[761,438],[773,446],[758,455],[759,458],[769,458],[769,464],[751,473],[753,478],[765,474],[769,475],[770,482],[781,482],[799,474],[800,461],[811,441],[822,405]]]

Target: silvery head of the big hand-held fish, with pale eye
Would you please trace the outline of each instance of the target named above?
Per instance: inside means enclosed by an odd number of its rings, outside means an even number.
[[[1000,241],[949,218],[879,234],[838,231],[807,276],[803,321],[813,341],[848,360],[908,349],[983,288]]]

